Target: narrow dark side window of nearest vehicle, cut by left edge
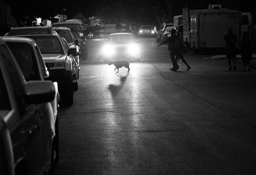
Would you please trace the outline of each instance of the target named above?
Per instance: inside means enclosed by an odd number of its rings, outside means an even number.
[[[1,70],[0,70],[0,109],[2,110],[11,109],[10,100],[8,97],[8,93],[6,90],[6,86],[3,80],[3,75]]]

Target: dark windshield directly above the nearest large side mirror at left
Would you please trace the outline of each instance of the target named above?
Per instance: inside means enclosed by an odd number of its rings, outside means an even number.
[[[41,80],[32,47],[24,42],[6,42],[26,81]]]

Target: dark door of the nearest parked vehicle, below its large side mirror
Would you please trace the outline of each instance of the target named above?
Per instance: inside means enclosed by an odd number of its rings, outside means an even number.
[[[11,110],[4,120],[10,127],[13,143],[15,171],[38,174],[44,166],[44,126],[34,105],[26,104],[23,98],[25,79],[17,63],[5,46],[0,46],[1,73],[7,84]]]

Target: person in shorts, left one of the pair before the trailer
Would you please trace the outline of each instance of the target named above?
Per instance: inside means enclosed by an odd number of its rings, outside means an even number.
[[[239,46],[237,36],[233,34],[233,28],[228,28],[228,32],[224,35],[224,43],[226,47],[226,57],[228,59],[229,70],[232,69],[231,60],[233,63],[233,70],[237,70],[236,67],[236,43]]]

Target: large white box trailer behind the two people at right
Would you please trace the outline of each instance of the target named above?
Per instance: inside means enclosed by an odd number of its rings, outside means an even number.
[[[241,37],[242,13],[235,10],[211,9],[198,11],[191,16],[191,48],[198,50],[224,48],[224,35],[228,28],[238,40]]]

